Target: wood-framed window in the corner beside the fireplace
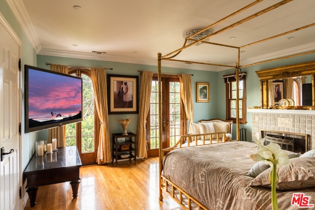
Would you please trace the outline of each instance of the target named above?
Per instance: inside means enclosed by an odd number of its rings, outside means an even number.
[[[239,79],[239,122],[246,124],[246,72]],[[236,79],[234,74],[224,75],[226,89],[226,118],[236,123]]]

